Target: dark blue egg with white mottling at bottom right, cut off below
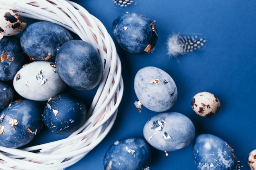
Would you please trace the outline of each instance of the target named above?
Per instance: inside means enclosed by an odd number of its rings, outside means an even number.
[[[196,137],[192,153],[198,170],[239,169],[234,149],[215,135],[201,134]]]

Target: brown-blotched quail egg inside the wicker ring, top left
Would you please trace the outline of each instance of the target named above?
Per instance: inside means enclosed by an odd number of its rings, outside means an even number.
[[[0,39],[3,36],[16,35],[27,26],[25,19],[11,9],[0,9]]]

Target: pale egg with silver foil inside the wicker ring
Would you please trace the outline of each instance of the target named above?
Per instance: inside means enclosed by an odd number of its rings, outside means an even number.
[[[56,68],[47,61],[36,61],[23,66],[13,79],[16,92],[35,101],[46,101],[63,92],[66,86]]]

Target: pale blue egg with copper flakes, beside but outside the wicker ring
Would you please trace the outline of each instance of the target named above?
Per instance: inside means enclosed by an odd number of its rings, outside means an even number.
[[[143,106],[155,112],[171,108],[177,99],[172,77],[160,68],[146,66],[135,75],[134,90]]]

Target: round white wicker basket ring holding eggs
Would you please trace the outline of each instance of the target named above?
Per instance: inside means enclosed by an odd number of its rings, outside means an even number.
[[[94,96],[88,121],[69,137],[22,149],[0,146],[0,169],[63,170],[82,159],[106,137],[123,95],[121,62],[105,26],[79,4],[67,0],[0,0],[0,8],[25,18],[47,20],[73,31],[99,50],[103,78]],[[40,135],[40,134],[39,134]]]

